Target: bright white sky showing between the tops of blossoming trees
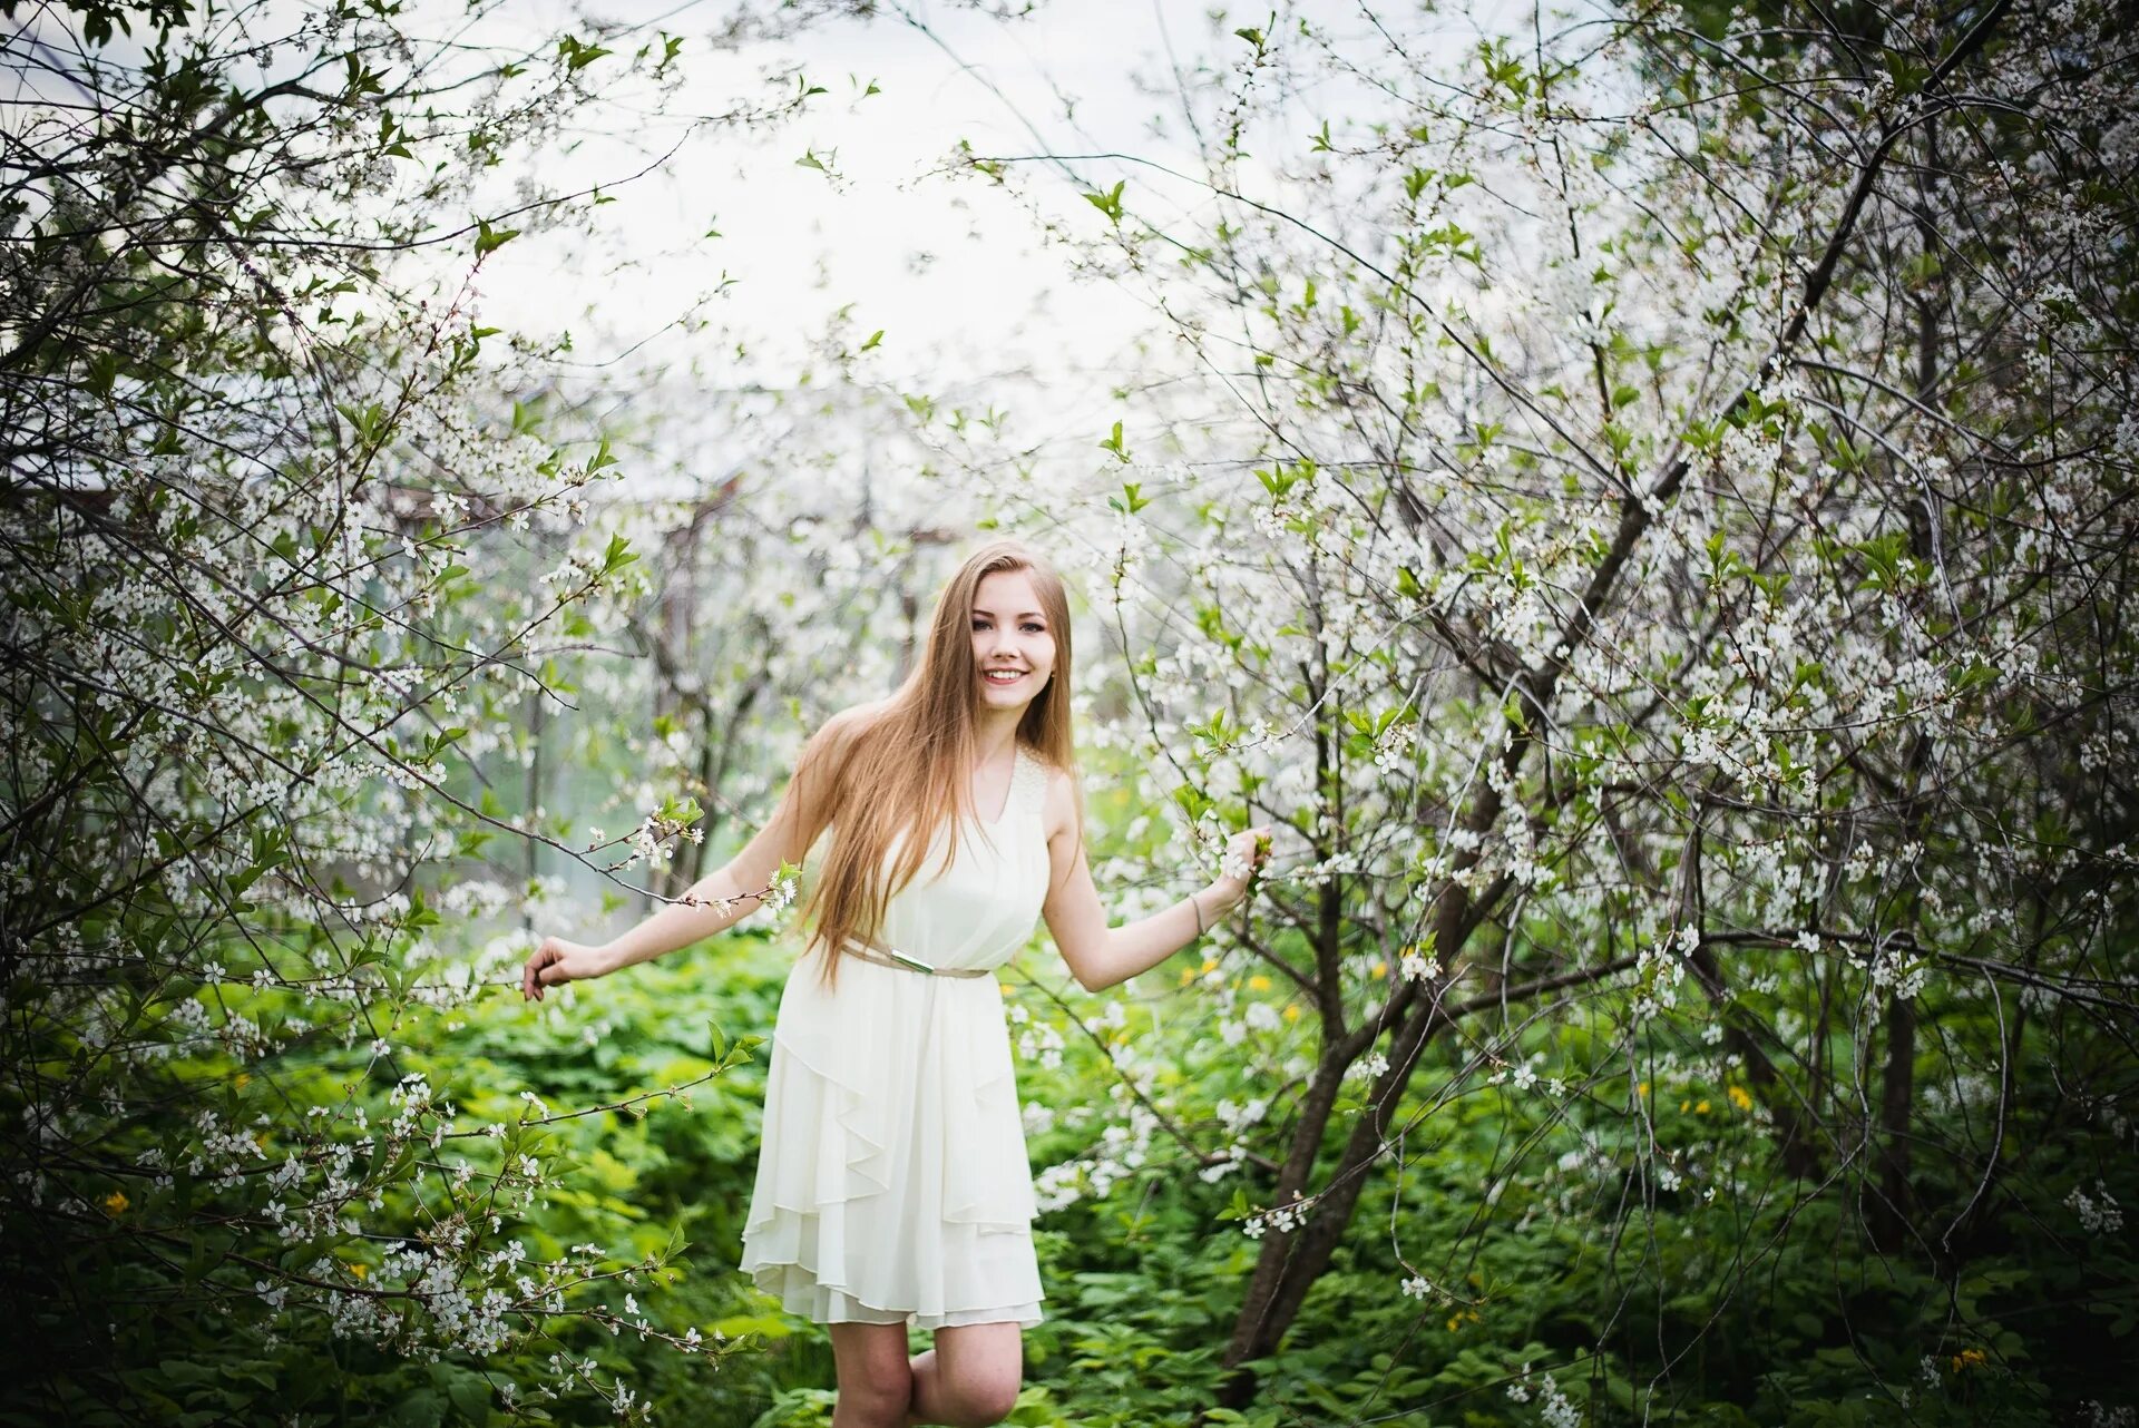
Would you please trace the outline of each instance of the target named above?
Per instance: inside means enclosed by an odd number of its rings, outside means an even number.
[[[524,233],[492,252],[477,280],[483,323],[528,336],[569,329],[565,374],[580,363],[612,389],[652,383],[659,391],[648,391],[644,410],[674,410],[693,391],[791,387],[806,361],[804,342],[851,306],[836,323],[849,348],[883,329],[858,381],[971,408],[1001,404],[1020,438],[1061,438],[1087,453],[1121,415],[1110,385],[1151,372],[1153,359],[1129,346],[1164,338],[1161,319],[1136,293],[1072,278],[1070,254],[1046,248],[1033,216],[986,180],[930,171],[967,139],[980,154],[1121,152],[1202,173],[1185,143],[1170,66],[1209,62],[1230,71],[1247,56],[1234,28],[1262,26],[1268,15],[1260,6],[1215,15],[1204,0],[1042,0],[1033,15],[999,21],[943,0],[892,0],[868,21],[821,19],[794,41],[736,51],[708,38],[727,19],[725,2],[593,2],[603,17],[644,24],[642,34],[610,41],[616,49],[659,43],[657,28],[680,34],[684,90],[670,96],[670,118],[631,124],[631,96],[605,96],[616,103],[597,105],[586,115],[590,130],[558,152],[530,160],[513,150],[492,173],[483,212],[524,201],[520,186],[530,169],[545,186],[569,190],[614,182],[676,152],[610,190],[616,201],[595,209],[593,244],[582,235]],[[306,9],[304,0],[270,4],[284,17]],[[1343,0],[1303,9],[1335,32],[1356,36],[1369,28]],[[590,34],[573,11],[571,0],[511,0],[471,28],[464,6],[432,0],[404,26],[424,38],[490,49],[496,62],[550,51],[558,32]],[[937,38],[903,17],[926,24]],[[1437,15],[1392,11],[1384,19],[1412,34],[1418,26],[1467,30]],[[137,53],[137,38],[118,36],[107,49]],[[299,60],[276,56],[280,64]],[[740,100],[785,96],[789,88],[772,88],[766,75],[791,66],[828,90],[800,118],[759,130],[693,124],[693,115]],[[622,58],[588,68],[595,83],[620,73]],[[858,100],[871,81],[879,92]],[[1063,115],[1063,96],[1074,98],[1074,122]],[[1315,94],[1309,103],[1318,113],[1335,109],[1343,133],[1337,96]],[[1159,115],[1164,130],[1153,128]],[[402,120],[421,128],[415,115]],[[1279,124],[1281,135],[1251,135],[1258,158],[1238,173],[1243,186],[1271,199],[1281,195],[1260,156],[1275,154],[1279,141],[1296,154],[1313,126],[1305,109]],[[806,150],[838,177],[798,167]],[[1127,177],[1127,201],[1166,224],[1202,203],[1194,186],[1168,192],[1159,173],[1134,162],[1078,160],[1076,171],[1099,188]],[[1057,167],[1031,162],[1020,173],[1048,218],[1082,233],[1104,231],[1104,216]],[[708,239],[708,227],[719,227],[721,237]],[[468,248],[451,248],[434,252],[464,271]],[[699,331],[663,331],[723,278],[732,286],[697,308],[706,319]],[[747,361],[734,355],[738,340],[749,344]],[[1020,366],[1037,368],[1044,410],[1033,410],[1029,383],[990,381]],[[834,372],[819,366],[815,376],[830,383]]]

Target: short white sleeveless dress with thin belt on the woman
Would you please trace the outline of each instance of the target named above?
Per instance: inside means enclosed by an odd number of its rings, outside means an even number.
[[[1048,889],[1046,782],[1020,744],[1001,817],[967,819],[941,876],[937,827],[875,941],[982,968],[1025,947]],[[1033,1174],[997,977],[841,956],[826,992],[819,956],[798,958],[781,992],[740,1268],[817,1323],[1040,1323]]]

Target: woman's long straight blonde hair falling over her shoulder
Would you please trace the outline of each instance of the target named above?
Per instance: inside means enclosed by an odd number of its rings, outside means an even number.
[[[802,902],[811,938],[802,956],[821,949],[824,985],[838,983],[841,945],[873,934],[892,894],[905,887],[939,825],[948,842],[939,874],[958,853],[971,808],[973,705],[980,671],[973,663],[973,599],[997,571],[1025,571],[1040,614],[1055,637],[1055,671],[1018,718],[1018,746],[1072,774],[1070,733],[1070,599],[1061,575],[1022,541],[990,541],[967,556],[937,596],[928,643],[898,690],[877,703],[841,710],[804,746],[789,797],[800,797],[802,847],[836,825],[815,887]],[[1078,797],[1082,823],[1082,797]],[[886,857],[898,844],[890,870]]]

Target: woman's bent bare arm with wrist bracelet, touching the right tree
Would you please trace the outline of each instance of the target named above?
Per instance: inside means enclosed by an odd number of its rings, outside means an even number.
[[[1245,872],[1219,876],[1151,917],[1110,928],[1106,909],[1099,906],[1099,889],[1091,883],[1091,866],[1084,862],[1084,827],[1078,821],[1070,776],[1061,770],[1048,778],[1046,825],[1050,872],[1048,900],[1040,915],[1046,917],[1070,975],[1087,992],[1102,992],[1151,971],[1194,943],[1247,896]],[[1234,842],[1241,844],[1236,851],[1245,853],[1249,868],[1260,853],[1247,849],[1268,847],[1266,840],[1268,829],[1234,834]]]

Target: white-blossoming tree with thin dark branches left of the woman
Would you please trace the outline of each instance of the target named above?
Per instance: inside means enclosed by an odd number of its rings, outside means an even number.
[[[492,780],[644,584],[595,498],[610,440],[537,400],[554,353],[473,284],[601,222],[614,195],[533,156],[659,113],[687,64],[657,24],[528,43],[505,11],[6,6],[9,1417],[347,1411],[370,1377],[483,1422],[490,1370],[644,1409],[565,1345],[644,1336],[661,1255],[522,1233],[543,1129],[616,1107],[471,1118],[400,1067],[421,1009],[515,981],[513,947],[430,930],[665,857],[697,812],[667,789],[590,853],[541,778]],[[813,92],[764,94],[691,122]],[[466,876],[492,838],[505,876]]]

